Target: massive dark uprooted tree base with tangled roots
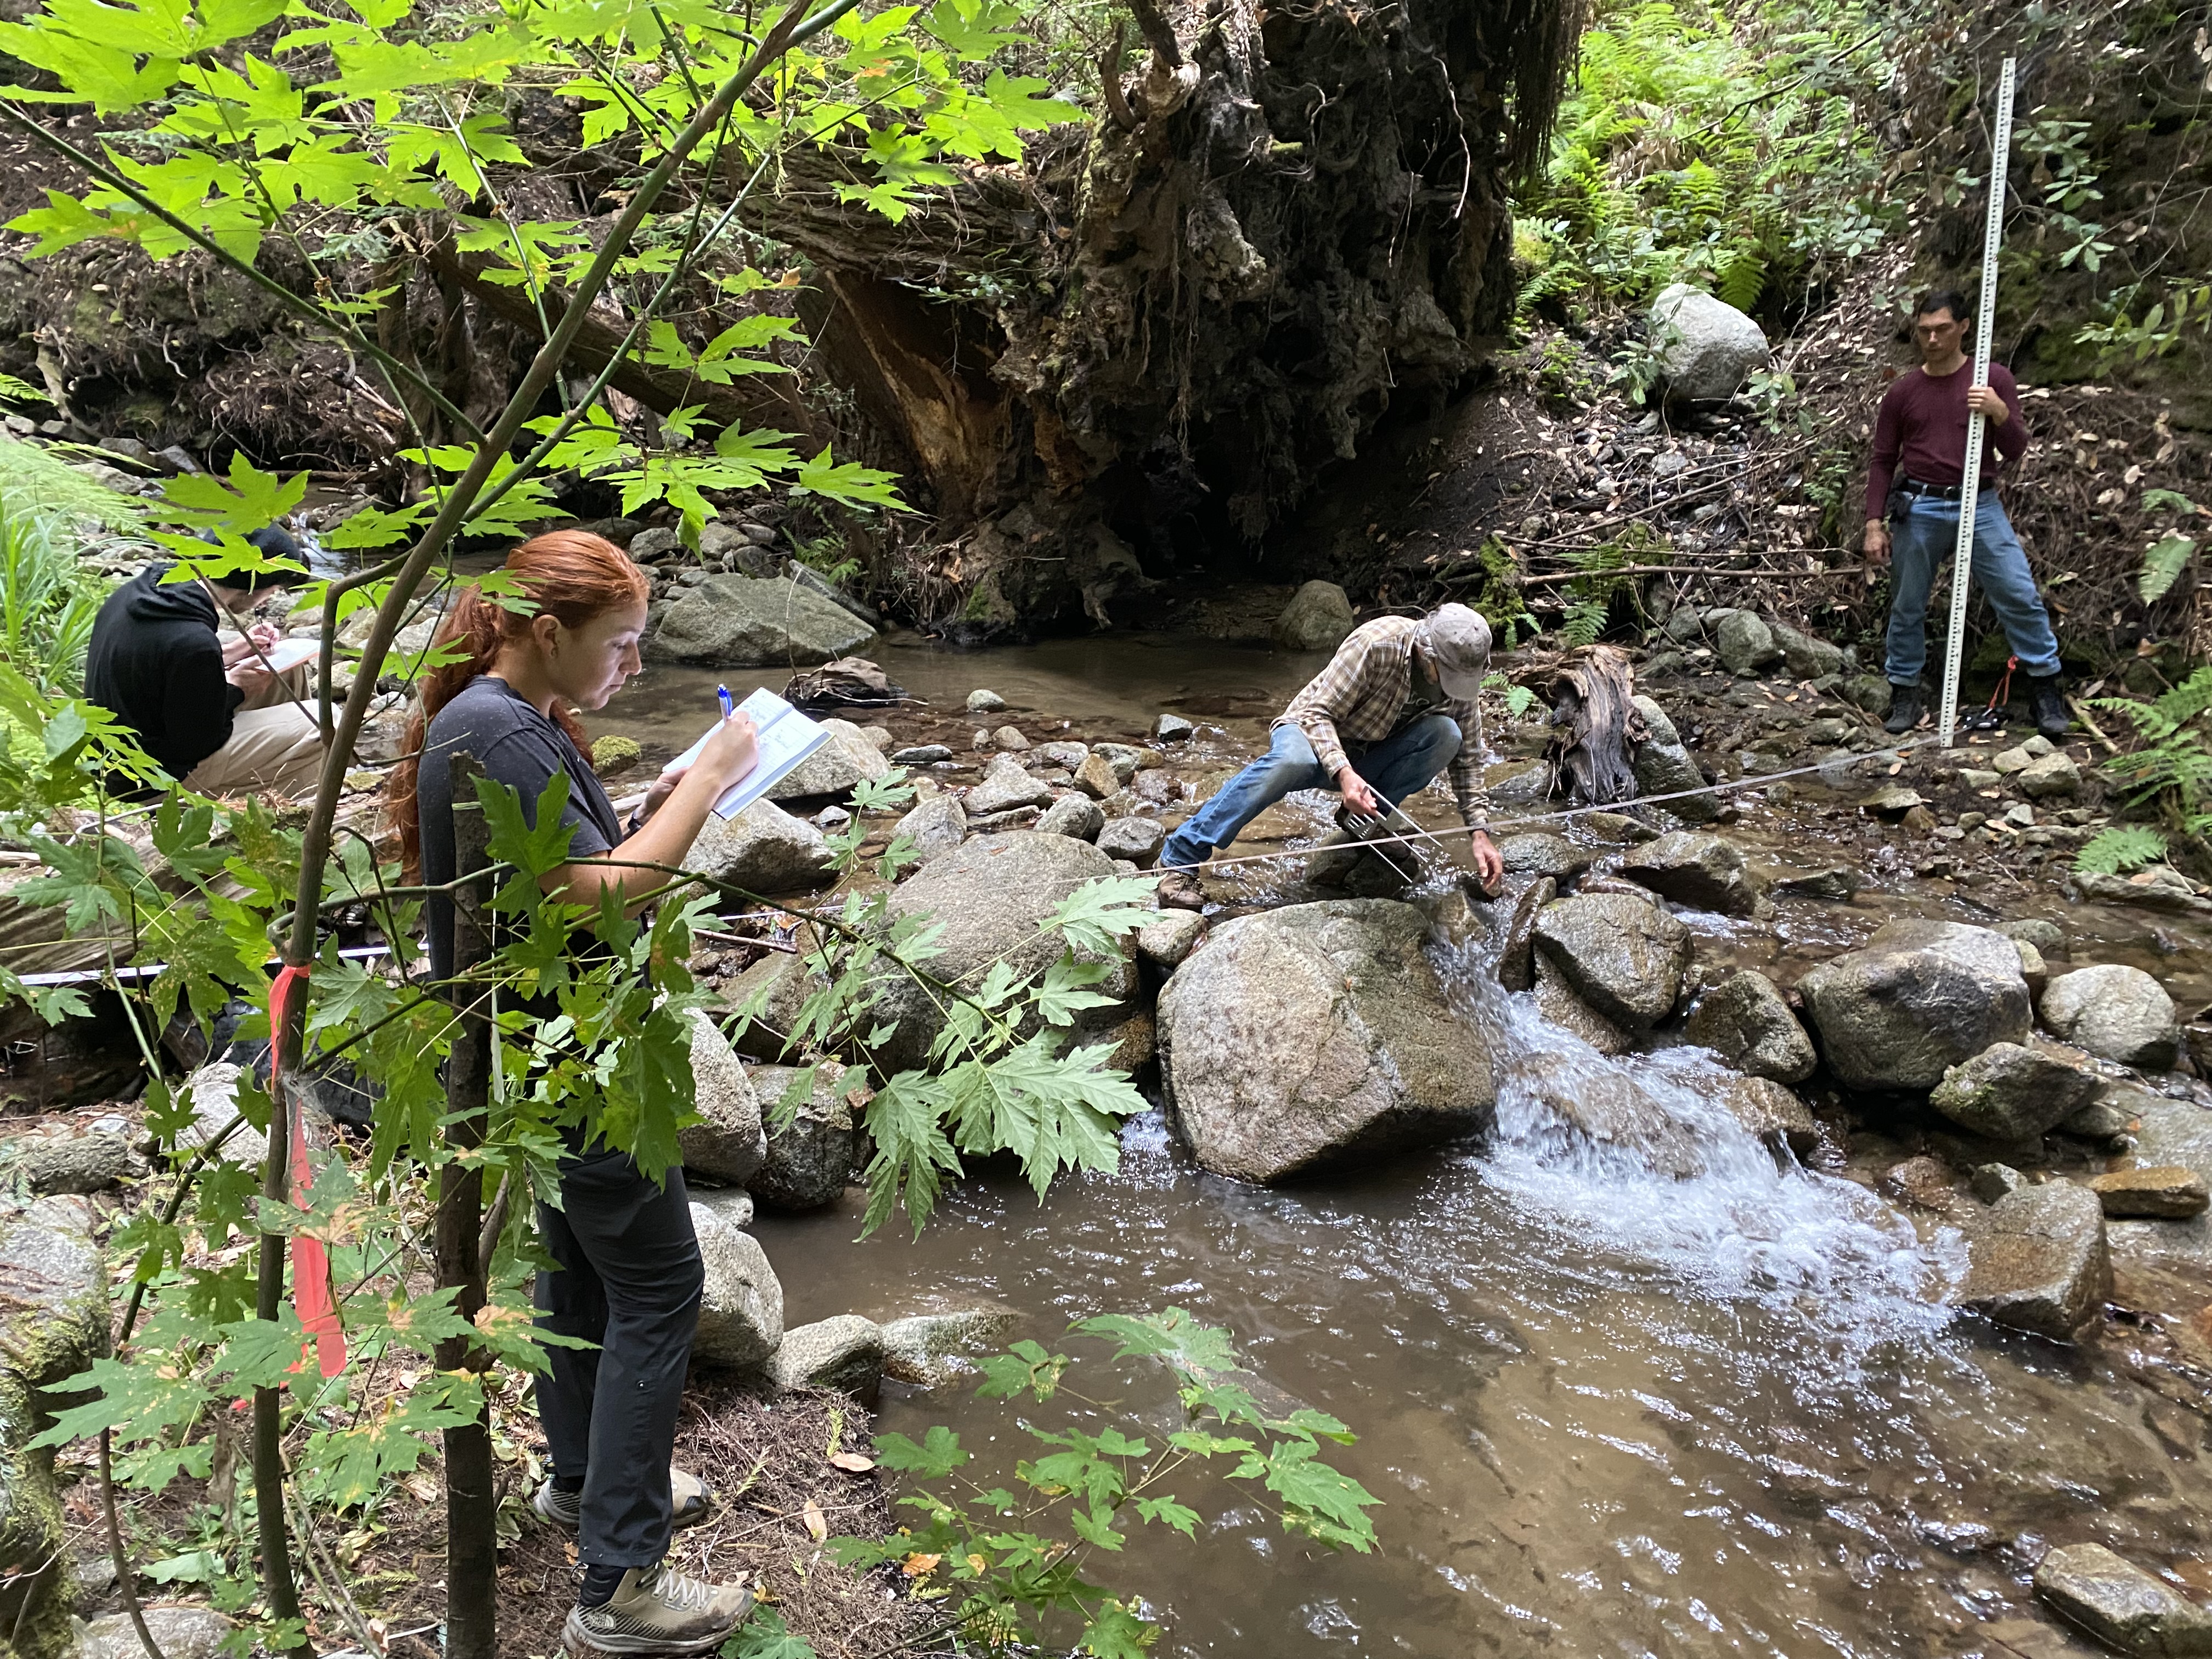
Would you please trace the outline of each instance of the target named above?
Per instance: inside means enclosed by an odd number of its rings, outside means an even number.
[[[1579,0],[1383,9],[1135,0],[1104,113],[885,226],[792,157],[748,204],[818,272],[805,314],[938,515],[971,633],[1110,617],[1250,557],[1513,307],[1509,179],[1544,142]],[[1119,58],[1119,51],[1108,55]],[[969,299],[945,299],[969,294]]]

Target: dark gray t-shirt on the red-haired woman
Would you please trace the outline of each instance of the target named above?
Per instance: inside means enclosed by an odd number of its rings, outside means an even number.
[[[422,823],[422,883],[453,880],[453,792],[447,765],[453,754],[473,754],[484,776],[522,796],[522,818],[538,827],[538,796],[555,772],[568,774],[568,805],[562,823],[575,830],[573,858],[597,858],[622,843],[622,821],[606,785],[568,734],[493,675],[478,675],[422,734],[416,774],[416,812]],[[453,971],[453,902],[431,894],[422,907],[429,922],[429,969],[445,980]]]

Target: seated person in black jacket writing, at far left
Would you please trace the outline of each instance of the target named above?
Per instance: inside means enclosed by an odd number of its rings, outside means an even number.
[[[299,542],[270,526],[246,538],[276,560]],[[164,582],[155,564],[100,606],[84,661],[84,695],[137,732],[161,770],[197,794],[305,794],[323,770],[323,732],[299,703],[307,666],[272,675],[263,653],[276,630],[257,624],[228,646],[226,617],[254,595],[305,580],[301,571],[234,571],[223,582]]]

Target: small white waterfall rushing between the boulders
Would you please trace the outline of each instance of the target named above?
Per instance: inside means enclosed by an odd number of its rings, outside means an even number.
[[[1770,1150],[1719,1102],[1725,1073],[1701,1051],[1615,1060],[1502,991],[1475,951],[1438,964],[1498,1055],[1486,1183],[1624,1263],[1624,1285],[1756,1303],[1851,1369],[1949,1323],[1964,1241],[1922,1241],[1865,1188]]]

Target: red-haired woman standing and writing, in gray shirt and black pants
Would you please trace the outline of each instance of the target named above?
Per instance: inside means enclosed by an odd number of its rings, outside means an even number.
[[[438,628],[460,661],[422,677],[389,805],[409,880],[453,880],[453,796],[447,761],[471,754],[489,779],[538,796],[568,776],[562,823],[571,863],[546,894],[597,905],[608,889],[641,909],[666,885],[655,865],[681,865],[712,803],[757,761],[752,721],[721,721],[688,768],[668,768],[628,825],[615,816],[571,710],[606,708],[639,670],[646,577],[613,542],[582,531],[538,535],[504,571],[531,602],[509,611],[465,588]],[[624,867],[624,858],[635,858]],[[453,973],[453,907],[429,900],[429,962]],[[551,1009],[549,1009],[551,1013]],[[737,1586],[703,1584],[664,1564],[675,1526],[706,1520],[706,1486],[668,1467],[703,1265],[684,1170],[648,1177],[628,1152],[586,1144],[562,1161],[562,1208],[540,1203],[538,1232],[560,1263],[538,1274],[540,1325],[595,1343],[553,1347],[538,1380],[538,1416],[553,1478],[533,1509],[577,1528],[584,1582],[568,1613],[575,1652],[699,1652],[721,1646],[752,1610]]]

